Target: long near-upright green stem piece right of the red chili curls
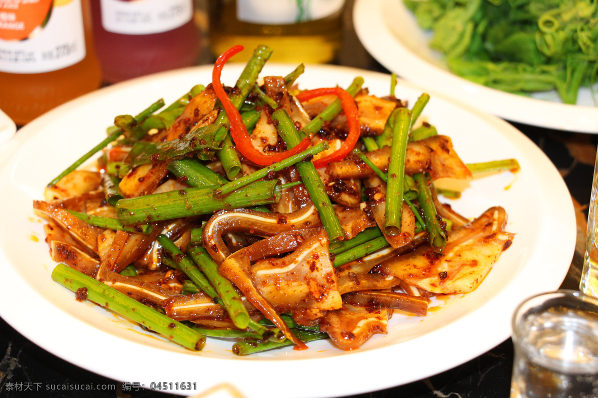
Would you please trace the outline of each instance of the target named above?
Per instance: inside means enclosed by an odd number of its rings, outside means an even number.
[[[391,236],[401,233],[405,158],[407,156],[410,123],[411,111],[407,108],[399,108],[393,128],[388,183],[386,185],[385,232]]]

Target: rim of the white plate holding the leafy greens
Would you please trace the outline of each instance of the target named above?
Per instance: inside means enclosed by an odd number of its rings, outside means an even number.
[[[390,8],[384,8],[391,2]],[[395,38],[383,11],[402,0],[355,0],[353,26],[361,44],[386,69],[414,84],[512,122],[598,134],[598,107],[552,103],[470,82],[424,60]],[[425,77],[423,77],[425,76]],[[458,93],[458,94],[455,94]]]

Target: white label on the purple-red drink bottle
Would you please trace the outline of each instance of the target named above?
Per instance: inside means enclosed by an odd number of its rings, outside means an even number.
[[[121,35],[168,32],[193,18],[193,0],[101,0],[100,5],[103,28]]]

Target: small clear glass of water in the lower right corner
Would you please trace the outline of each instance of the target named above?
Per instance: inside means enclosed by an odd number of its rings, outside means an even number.
[[[598,397],[598,299],[536,295],[515,310],[512,329],[511,398]]]

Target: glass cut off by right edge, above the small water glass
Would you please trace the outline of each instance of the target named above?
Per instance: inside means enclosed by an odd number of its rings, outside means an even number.
[[[593,297],[598,297],[598,152],[594,165],[594,178],[588,213],[588,229],[585,233],[584,268],[581,272],[579,290]]]

